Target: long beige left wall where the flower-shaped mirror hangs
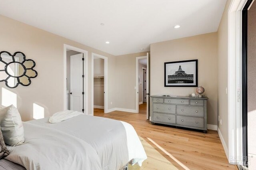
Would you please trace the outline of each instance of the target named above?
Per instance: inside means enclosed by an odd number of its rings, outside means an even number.
[[[91,53],[97,53],[108,57],[108,108],[115,107],[115,70],[116,57],[97,49],[76,43],[74,41],[56,36],[44,30],[23,24],[10,18],[0,16],[0,23],[4,27],[0,29],[0,51],[9,51],[14,53],[22,51],[28,59],[36,62],[36,71],[38,77],[32,79],[28,87],[19,85],[15,89],[6,88],[3,82],[0,87],[17,94],[17,107],[20,111],[22,121],[33,119],[33,103],[36,103],[45,109],[45,117],[53,113],[62,111],[64,108],[64,77],[63,74],[63,44],[72,45],[88,51],[88,82],[92,79],[91,74]],[[91,85],[88,83],[88,112],[91,113]],[[0,96],[2,91],[0,90]],[[110,105],[110,101],[113,102]],[[0,98],[0,102],[2,99]]]

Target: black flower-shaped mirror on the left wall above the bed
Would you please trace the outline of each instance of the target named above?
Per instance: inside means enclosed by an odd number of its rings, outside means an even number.
[[[26,59],[22,52],[16,52],[13,55],[7,51],[0,52],[0,82],[5,81],[9,88],[15,88],[19,84],[28,86],[31,84],[31,78],[37,76],[35,61]]]

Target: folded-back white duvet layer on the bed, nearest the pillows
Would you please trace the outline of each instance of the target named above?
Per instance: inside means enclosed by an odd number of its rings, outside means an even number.
[[[102,170],[98,154],[85,141],[55,129],[23,125],[25,143],[8,146],[5,159],[27,170]]]

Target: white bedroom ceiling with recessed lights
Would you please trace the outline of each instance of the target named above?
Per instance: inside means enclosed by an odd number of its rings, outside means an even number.
[[[216,32],[225,4],[226,0],[0,0],[0,14],[122,55],[149,51],[150,43]],[[181,27],[174,29],[176,24]]]

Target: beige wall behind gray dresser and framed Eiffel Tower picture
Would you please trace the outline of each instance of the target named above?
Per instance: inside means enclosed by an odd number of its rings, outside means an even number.
[[[164,62],[198,59],[198,85],[204,87],[207,123],[217,125],[217,33],[150,45],[150,95],[188,96],[196,87],[164,87]]]

